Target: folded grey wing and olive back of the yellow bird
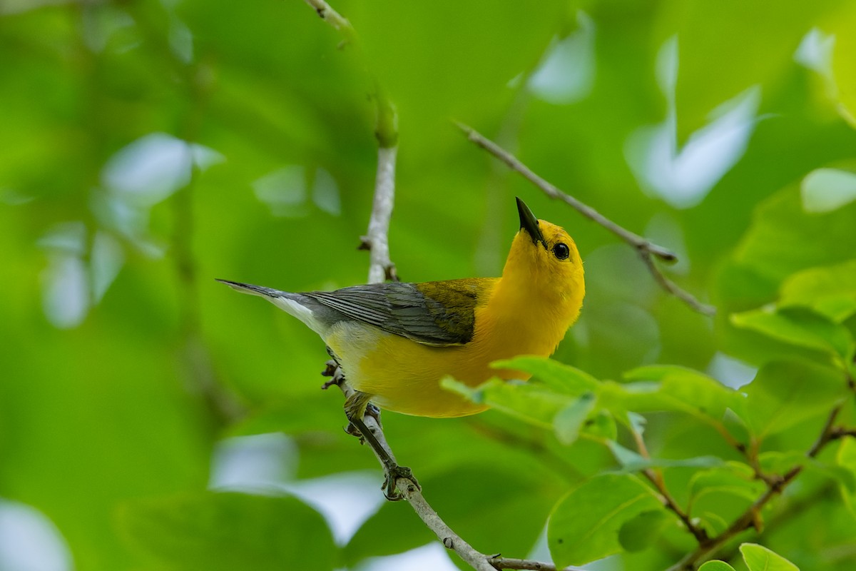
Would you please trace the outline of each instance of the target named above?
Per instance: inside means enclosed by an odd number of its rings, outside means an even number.
[[[482,282],[375,283],[300,295],[341,313],[342,318],[442,347],[473,339],[474,310]]]

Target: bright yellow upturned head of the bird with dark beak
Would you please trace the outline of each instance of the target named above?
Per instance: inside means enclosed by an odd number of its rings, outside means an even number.
[[[502,281],[526,291],[532,303],[552,304],[553,310],[573,321],[586,294],[583,263],[574,240],[556,224],[538,220],[517,199],[520,231],[514,236]]]

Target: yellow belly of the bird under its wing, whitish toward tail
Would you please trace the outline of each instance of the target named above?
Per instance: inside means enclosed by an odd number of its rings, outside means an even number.
[[[553,347],[521,348],[511,343],[431,347],[362,324],[337,324],[325,340],[338,356],[348,384],[372,395],[378,407],[431,417],[475,414],[487,407],[440,387],[450,376],[471,386],[491,377],[520,378],[516,371],[497,371],[494,360],[516,354],[550,354]],[[529,350],[526,350],[529,349]]]

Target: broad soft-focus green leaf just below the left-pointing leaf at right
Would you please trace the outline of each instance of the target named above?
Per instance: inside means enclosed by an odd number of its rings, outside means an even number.
[[[804,361],[772,361],[743,390],[746,419],[759,439],[829,413],[846,393],[840,373]]]

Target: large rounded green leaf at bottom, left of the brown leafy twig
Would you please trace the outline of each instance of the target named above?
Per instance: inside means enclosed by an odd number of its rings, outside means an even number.
[[[622,550],[618,534],[628,520],[662,510],[657,495],[629,474],[603,474],[568,493],[547,526],[557,567],[580,565]]]

